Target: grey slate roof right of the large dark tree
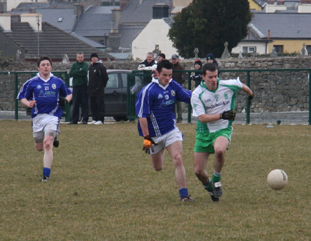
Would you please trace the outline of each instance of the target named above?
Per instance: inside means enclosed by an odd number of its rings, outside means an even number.
[[[265,13],[256,12],[251,21],[263,36],[273,39],[311,39],[310,13]]]

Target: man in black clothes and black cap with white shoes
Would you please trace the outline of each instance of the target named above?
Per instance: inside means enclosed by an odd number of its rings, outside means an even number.
[[[105,116],[104,88],[109,80],[106,67],[99,60],[97,53],[91,54],[91,65],[88,68],[88,95],[93,120],[88,124],[102,125]]]

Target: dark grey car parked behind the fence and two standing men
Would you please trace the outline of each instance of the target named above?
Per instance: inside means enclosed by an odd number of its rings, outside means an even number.
[[[116,121],[127,120],[126,118],[126,96],[127,96],[127,74],[129,70],[107,69],[109,80],[105,88],[105,116],[113,116]],[[142,78],[136,76],[135,83],[142,86]],[[89,116],[92,116],[91,107],[88,101]],[[72,105],[70,102],[70,116]],[[31,108],[27,109],[27,114],[31,114]],[[81,114],[81,111],[80,111]]]

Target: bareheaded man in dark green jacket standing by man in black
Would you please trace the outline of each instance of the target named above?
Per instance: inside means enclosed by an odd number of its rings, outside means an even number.
[[[69,77],[73,78],[73,116],[69,125],[76,125],[82,108],[82,124],[88,123],[88,63],[84,54],[77,53],[77,61],[71,66]]]

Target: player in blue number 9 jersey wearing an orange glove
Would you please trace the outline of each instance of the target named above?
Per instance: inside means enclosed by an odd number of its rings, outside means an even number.
[[[186,170],[182,163],[182,133],[176,126],[174,113],[176,101],[189,103],[191,91],[186,91],[171,79],[173,64],[162,60],[156,69],[158,78],[153,78],[136,99],[136,114],[139,117],[138,132],[144,136],[144,147],[151,154],[153,168],[163,168],[164,148],[167,148],[176,168],[176,181],[180,200],[193,202],[187,189]]]

